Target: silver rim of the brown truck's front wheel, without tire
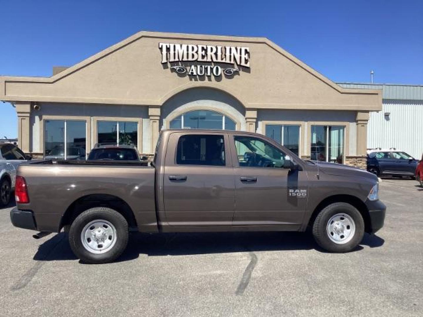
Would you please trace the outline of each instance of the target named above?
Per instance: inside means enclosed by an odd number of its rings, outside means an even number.
[[[327,222],[326,232],[329,239],[336,244],[351,241],[355,234],[355,222],[346,213],[337,213]]]

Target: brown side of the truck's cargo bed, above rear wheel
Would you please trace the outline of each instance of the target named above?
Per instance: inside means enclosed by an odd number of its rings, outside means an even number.
[[[19,206],[33,212],[40,231],[58,231],[66,212],[87,200],[104,199],[130,208],[132,226],[157,231],[155,168],[143,162],[34,161],[19,166],[17,175],[25,178],[30,197]]]

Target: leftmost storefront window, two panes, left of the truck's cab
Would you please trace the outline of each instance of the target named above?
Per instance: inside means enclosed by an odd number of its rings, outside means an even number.
[[[66,140],[66,142],[65,142]],[[46,120],[44,155],[55,159],[85,159],[86,122],[82,120]]]

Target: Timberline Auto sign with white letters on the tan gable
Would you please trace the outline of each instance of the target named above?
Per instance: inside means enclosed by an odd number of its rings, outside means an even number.
[[[162,64],[182,62],[204,62],[211,65],[171,66],[170,69],[178,74],[190,76],[215,77],[233,76],[239,73],[239,68],[250,68],[250,49],[240,46],[213,46],[193,44],[159,43],[162,53]],[[222,68],[213,63],[230,64],[232,67]],[[236,68],[238,66],[239,68]]]

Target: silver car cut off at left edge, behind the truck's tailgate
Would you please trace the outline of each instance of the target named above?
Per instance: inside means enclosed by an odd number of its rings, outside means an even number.
[[[0,207],[8,205],[10,201],[18,165],[30,159],[16,145],[0,143]]]

